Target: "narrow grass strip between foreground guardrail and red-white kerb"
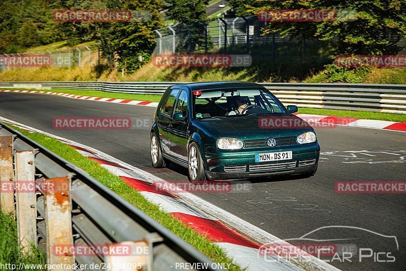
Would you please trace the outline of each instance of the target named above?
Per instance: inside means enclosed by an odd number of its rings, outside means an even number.
[[[149,202],[137,190],[134,190],[128,186],[120,177],[110,173],[107,169],[101,167],[95,161],[82,156],[73,147],[63,144],[54,138],[38,133],[29,133],[14,126],[13,129],[48,148],[51,150],[51,152],[77,165],[89,173],[89,175],[91,175],[93,178],[98,180],[98,182],[142,210],[142,212],[156,220],[167,229],[177,234],[179,237],[184,239],[202,254],[205,254],[211,258],[213,261],[219,263],[231,263],[230,270],[240,270],[240,267],[234,264],[232,260],[225,255],[222,249],[212,244],[212,242],[206,236],[198,234],[181,221],[175,219],[171,214],[166,214],[163,212],[159,206]]]

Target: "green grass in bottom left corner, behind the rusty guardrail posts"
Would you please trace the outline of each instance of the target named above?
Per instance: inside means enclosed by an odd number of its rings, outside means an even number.
[[[35,248],[30,253],[23,254],[18,245],[17,223],[10,215],[0,212],[0,264],[45,264],[44,254]],[[6,268],[7,269],[7,268]],[[10,268],[11,269],[11,268]],[[24,270],[44,270],[34,266]]]

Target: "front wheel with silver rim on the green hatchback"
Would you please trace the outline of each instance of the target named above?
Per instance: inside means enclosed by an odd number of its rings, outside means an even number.
[[[188,150],[188,172],[189,182],[194,185],[204,185],[207,183],[205,167],[196,143],[190,143]]]

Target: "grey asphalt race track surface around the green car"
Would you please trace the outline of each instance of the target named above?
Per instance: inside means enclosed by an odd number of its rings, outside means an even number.
[[[179,166],[151,166],[149,127],[154,111],[145,106],[0,93],[0,116],[91,146],[161,178],[187,180],[186,169]],[[130,130],[58,130],[52,125],[54,117],[135,117],[147,119],[149,125]],[[351,262],[335,259],[332,265],[337,268],[404,270],[406,195],[341,194],[336,193],[335,182],[405,181],[406,133],[340,126],[316,132],[323,154],[315,176],[256,179],[251,192],[196,195],[281,239],[297,239],[325,226],[363,228],[324,228],[309,238],[348,239],[345,243],[369,249],[363,255],[370,256],[361,262],[359,255]],[[394,262],[378,262],[393,260],[391,255]]]

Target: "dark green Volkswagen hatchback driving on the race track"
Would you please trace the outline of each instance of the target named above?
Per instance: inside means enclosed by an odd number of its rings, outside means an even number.
[[[155,168],[188,168],[193,184],[317,171],[314,129],[265,87],[204,82],[168,87],[151,128]]]

